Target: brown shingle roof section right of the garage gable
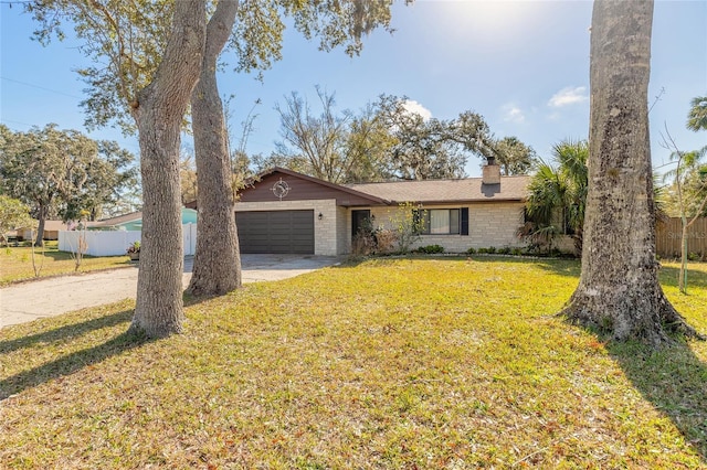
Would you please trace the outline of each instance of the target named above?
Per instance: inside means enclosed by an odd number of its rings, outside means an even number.
[[[500,184],[481,178],[347,184],[347,188],[391,202],[524,201],[530,177],[502,177]]]

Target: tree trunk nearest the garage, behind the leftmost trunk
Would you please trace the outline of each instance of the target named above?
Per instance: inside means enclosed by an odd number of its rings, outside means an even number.
[[[194,296],[222,295],[241,287],[231,164],[217,85],[217,60],[231,34],[238,8],[238,1],[219,1],[207,26],[201,76],[191,96],[199,224],[188,291]]]

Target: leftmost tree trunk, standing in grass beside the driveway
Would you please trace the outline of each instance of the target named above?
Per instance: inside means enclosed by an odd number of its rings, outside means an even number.
[[[134,109],[143,174],[143,239],[130,330],[150,338],[182,331],[179,143],[184,111],[201,70],[205,17],[202,0],[175,3],[165,56]]]

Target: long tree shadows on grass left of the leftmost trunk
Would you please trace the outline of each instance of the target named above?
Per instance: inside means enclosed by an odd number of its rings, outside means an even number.
[[[127,322],[131,318],[133,310],[130,309],[107,317],[87,320],[82,323],[61,327],[45,333],[6,341],[0,343],[0,352],[7,353],[9,351],[29,346],[39,341],[57,341],[77,337],[78,334],[87,333],[92,330],[99,330],[117,325],[120,322]],[[88,365],[99,363],[110,356],[120,354],[124,351],[131,350],[150,341],[152,340],[145,335],[131,332],[122,332],[105,343],[70,353],[34,368],[3,378],[0,381],[0,402],[25,389],[35,387],[54,378],[73,374]]]

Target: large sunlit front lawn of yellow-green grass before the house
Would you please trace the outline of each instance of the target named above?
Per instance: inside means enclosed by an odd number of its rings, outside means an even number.
[[[707,266],[665,290],[707,332]],[[555,313],[579,264],[373,259],[0,330],[6,468],[707,468],[707,343],[615,345]],[[8,397],[9,396],[9,397]]]

